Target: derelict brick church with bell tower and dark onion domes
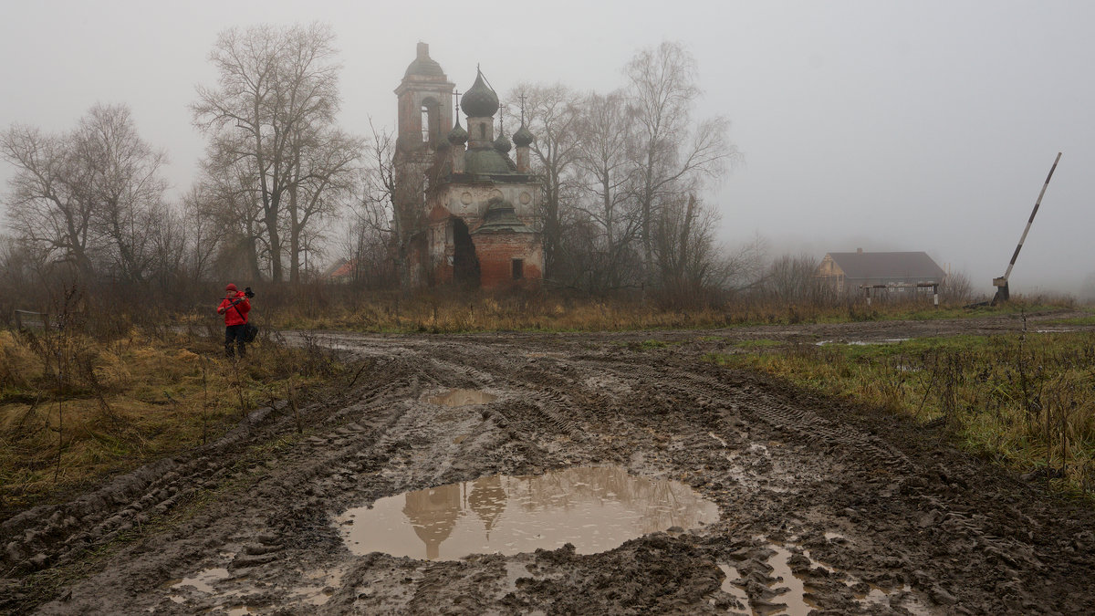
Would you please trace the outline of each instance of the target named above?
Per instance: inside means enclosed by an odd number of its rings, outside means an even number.
[[[532,134],[522,119],[512,144],[500,125],[495,137],[498,94],[482,72],[462,98],[454,88],[419,43],[395,89],[393,203],[407,238],[408,282],[535,288],[543,236],[541,181],[529,166]],[[515,145],[516,161],[509,156]]]

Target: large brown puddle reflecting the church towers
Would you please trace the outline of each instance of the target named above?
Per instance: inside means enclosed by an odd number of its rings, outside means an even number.
[[[656,531],[717,520],[718,506],[684,483],[607,466],[496,475],[407,492],[351,509],[335,523],[354,554],[454,560],[567,543],[578,554],[595,554]]]

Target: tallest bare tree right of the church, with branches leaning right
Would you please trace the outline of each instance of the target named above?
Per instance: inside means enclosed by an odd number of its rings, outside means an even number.
[[[636,129],[633,159],[645,280],[654,284],[653,230],[658,208],[698,192],[705,180],[719,178],[738,152],[727,137],[727,118],[692,124],[692,107],[701,92],[695,59],[681,44],[666,42],[643,49],[624,71]]]

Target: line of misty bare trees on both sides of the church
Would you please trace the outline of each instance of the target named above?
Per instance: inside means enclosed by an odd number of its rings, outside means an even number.
[[[141,138],[125,105],[96,104],[57,134],[0,133],[15,170],[3,195],[0,311],[77,285],[185,303],[224,280],[298,285],[335,260],[351,287],[400,285],[410,238],[392,215],[394,135],[337,125],[333,31],[231,28],[209,60],[217,82],[199,85],[189,107],[206,152],[175,202],[166,153]],[[639,50],[623,75],[607,93],[526,83],[508,95],[506,126],[523,119],[535,136],[546,286],[675,305],[823,297],[809,256],[769,260],[759,237],[733,250],[716,241],[726,204],[704,194],[741,155],[726,117],[695,117],[689,52]]]

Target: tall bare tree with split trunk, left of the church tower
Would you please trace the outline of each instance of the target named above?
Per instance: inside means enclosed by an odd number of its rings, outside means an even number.
[[[218,88],[198,87],[198,101],[192,105],[196,125],[210,136],[212,156],[253,174],[250,184],[262,208],[275,282],[285,278],[283,230],[290,235],[293,271],[304,247],[304,227],[314,214],[325,212],[342,183],[313,175],[318,167],[306,168],[341,160],[336,152],[347,148],[348,138],[334,129],[341,65],[333,43],[331,27],[319,24],[224,31],[209,55],[220,73]],[[324,169],[328,175],[344,170]],[[300,198],[301,191],[310,195]]]

